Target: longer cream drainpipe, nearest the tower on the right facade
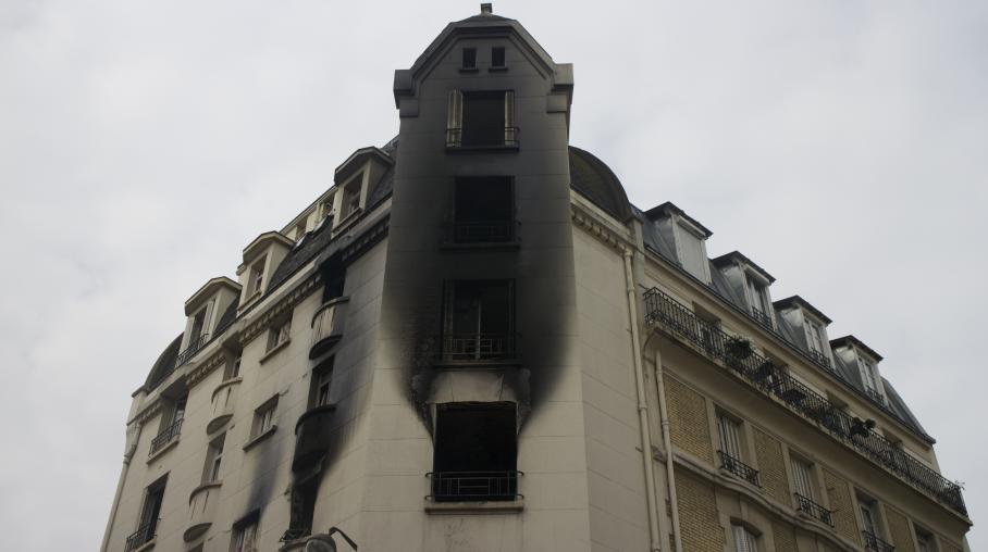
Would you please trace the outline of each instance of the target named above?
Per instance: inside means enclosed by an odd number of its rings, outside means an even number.
[[[649,535],[652,552],[662,551],[662,532],[658,528],[658,506],[655,503],[655,473],[652,467],[652,436],[649,429],[649,403],[645,400],[645,375],[642,369],[642,348],[638,334],[638,297],[631,273],[631,249],[623,248],[625,286],[628,292],[628,316],[631,323],[631,359],[634,361],[634,384],[638,391],[639,428],[642,432],[642,460],[645,464],[645,494],[649,504]]]

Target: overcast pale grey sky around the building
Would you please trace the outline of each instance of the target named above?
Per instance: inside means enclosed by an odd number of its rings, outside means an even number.
[[[575,64],[571,143],[885,356],[988,523],[988,3],[504,0]],[[0,2],[0,535],[97,550],[184,301],[398,128],[478,2]],[[970,534],[988,549],[988,530]]]

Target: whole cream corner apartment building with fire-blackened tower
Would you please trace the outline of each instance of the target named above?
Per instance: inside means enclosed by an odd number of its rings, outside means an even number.
[[[185,302],[102,550],[966,550],[881,356],[632,205],[572,93],[486,4],[397,71],[398,136]]]

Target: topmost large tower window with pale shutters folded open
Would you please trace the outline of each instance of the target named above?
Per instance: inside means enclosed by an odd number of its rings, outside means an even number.
[[[447,148],[516,147],[515,92],[452,90],[446,117]]]

